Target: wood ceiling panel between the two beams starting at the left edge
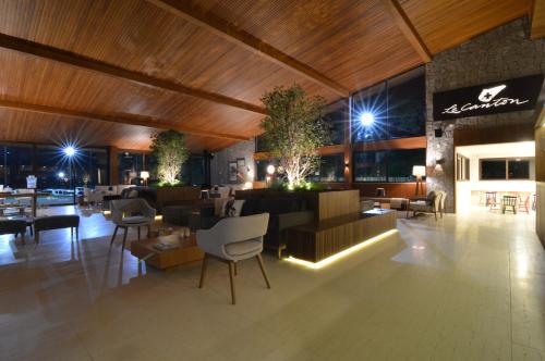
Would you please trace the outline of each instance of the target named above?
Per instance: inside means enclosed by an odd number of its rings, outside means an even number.
[[[0,98],[104,115],[138,114],[247,136],[262,115],[0,50]]]

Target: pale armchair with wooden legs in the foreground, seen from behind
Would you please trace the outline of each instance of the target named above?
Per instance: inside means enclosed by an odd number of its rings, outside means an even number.
[[[233,275],[237,275],[237,262],[239,261],[255,257],[267,288],[270,288],[261,254],[263,236],[267,233],[268,222],[268,213],[233,216],[219,221],[210,229],[197,231],[197,246],[205,252],[198,288],[203,288],[206,266],[210,257],[229,265],[232,304],[235,304]]]

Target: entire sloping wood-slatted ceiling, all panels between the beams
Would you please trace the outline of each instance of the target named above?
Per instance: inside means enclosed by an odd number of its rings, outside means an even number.
[[[400,1],[432,53],[525,14],[530,2]],[[422,63],[382,0],[193,0],[192,4],[233,23],[351,90]],[[256,105],[266,90],[294,82],[328,101],[339,98],[316,83],[143,0],[0,0],[0,33]],[[173,125],[245,137],[259,133],[259,114],[9,50],[0,49],[0,99],[109,116],[152,116]],[[65,122],[70,132],[80,127],[80,134],[92,139],[100,135],[101,140],[95,141],[134,149],[146,148],[153,132],[66,116],[14,113],[0,109],[0,115],[21,120],[11,121],[8,132],[8,122],[0,119],[4,140],[7,135],[13,136],[12,140],[50,137]],[[191,139],[195,149],[216,150],[231,144],[208,137]]]

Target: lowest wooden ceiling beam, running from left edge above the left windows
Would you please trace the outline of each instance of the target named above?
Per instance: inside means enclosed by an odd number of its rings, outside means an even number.
[[[229,134],[221,134],[215,132],[204,132],[194,129],[191,127],[186,127],[184,125],[175,125],[170,124],[165,121],[159,121],[154,117],[146,117],[138,115],[137,117],[126,117],[126,116],[111,116],[111,115],[99,115],[87,112],[80,112],[73,110],[66,110],[62,108],[56,107],[47,107],[40,104],[29,104],[23,103],[19,101],[9,101],[9,100],[0,100],[0,108],[12,109],[12,110],[22,110],[40,114],[50,114],[57,116],[65,116],[65,117],[75,117],[83,119],[89,121],[99,121],[99,122],[108,122],[108,123],[117,123],[117,124],[128,124],[128,125],[137,125],[145,126],[148,128],[158,128],[158,129],[175,129],[185,134],[191,134],[199,137],[208,137],[208,138],[222,138],[230,140],[247,140],[247,137],[241,137]]]

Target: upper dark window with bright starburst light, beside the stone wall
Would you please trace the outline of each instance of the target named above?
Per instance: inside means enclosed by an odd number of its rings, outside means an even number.
[[[425,134],[425,74],[419,67],[352,97],[352,141]]]

